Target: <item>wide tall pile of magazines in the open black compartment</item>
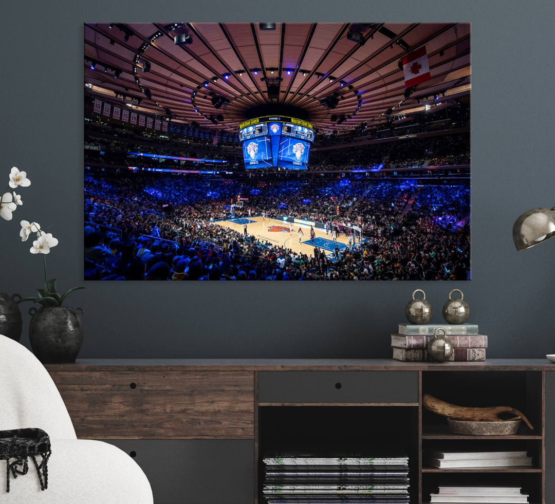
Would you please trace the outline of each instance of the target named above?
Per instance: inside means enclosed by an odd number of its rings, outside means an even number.
[[[269,504],[408,504],[408,457],[282,453],[263,458]]]

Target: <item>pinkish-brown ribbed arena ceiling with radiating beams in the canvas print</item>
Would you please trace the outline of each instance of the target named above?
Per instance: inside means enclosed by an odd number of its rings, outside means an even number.
[[[89,94],[206,128],[297,110],[330,132],[470,96],[468,23],[95,23],[84,40]],[[422,46],[432,78],[406,98],[399,62]]]

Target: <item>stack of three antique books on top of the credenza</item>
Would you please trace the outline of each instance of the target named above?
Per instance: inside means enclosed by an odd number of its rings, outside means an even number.
[[[450,360],[485,361],[487,336],[478,334],[476,324],[399,324],[399,332],[391,335],[393,359],[407,362],[430,360],[426,345],[433,338],[433,332],[441,327],[447,333],[447,339],[453,345]],[[443,336],[443,332],[440,331]]]

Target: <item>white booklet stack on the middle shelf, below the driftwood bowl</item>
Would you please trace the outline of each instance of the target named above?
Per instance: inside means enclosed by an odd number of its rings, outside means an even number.
[[[435,451],[427,450],[425,463],[441,469],[467,467],[532,466],[526,451]]]

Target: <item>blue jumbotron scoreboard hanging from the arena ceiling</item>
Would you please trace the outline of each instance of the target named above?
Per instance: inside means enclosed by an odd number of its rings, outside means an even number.
[[[294,117],[270,115],[239,125],[245,168],[306,170],[315,129]]]

